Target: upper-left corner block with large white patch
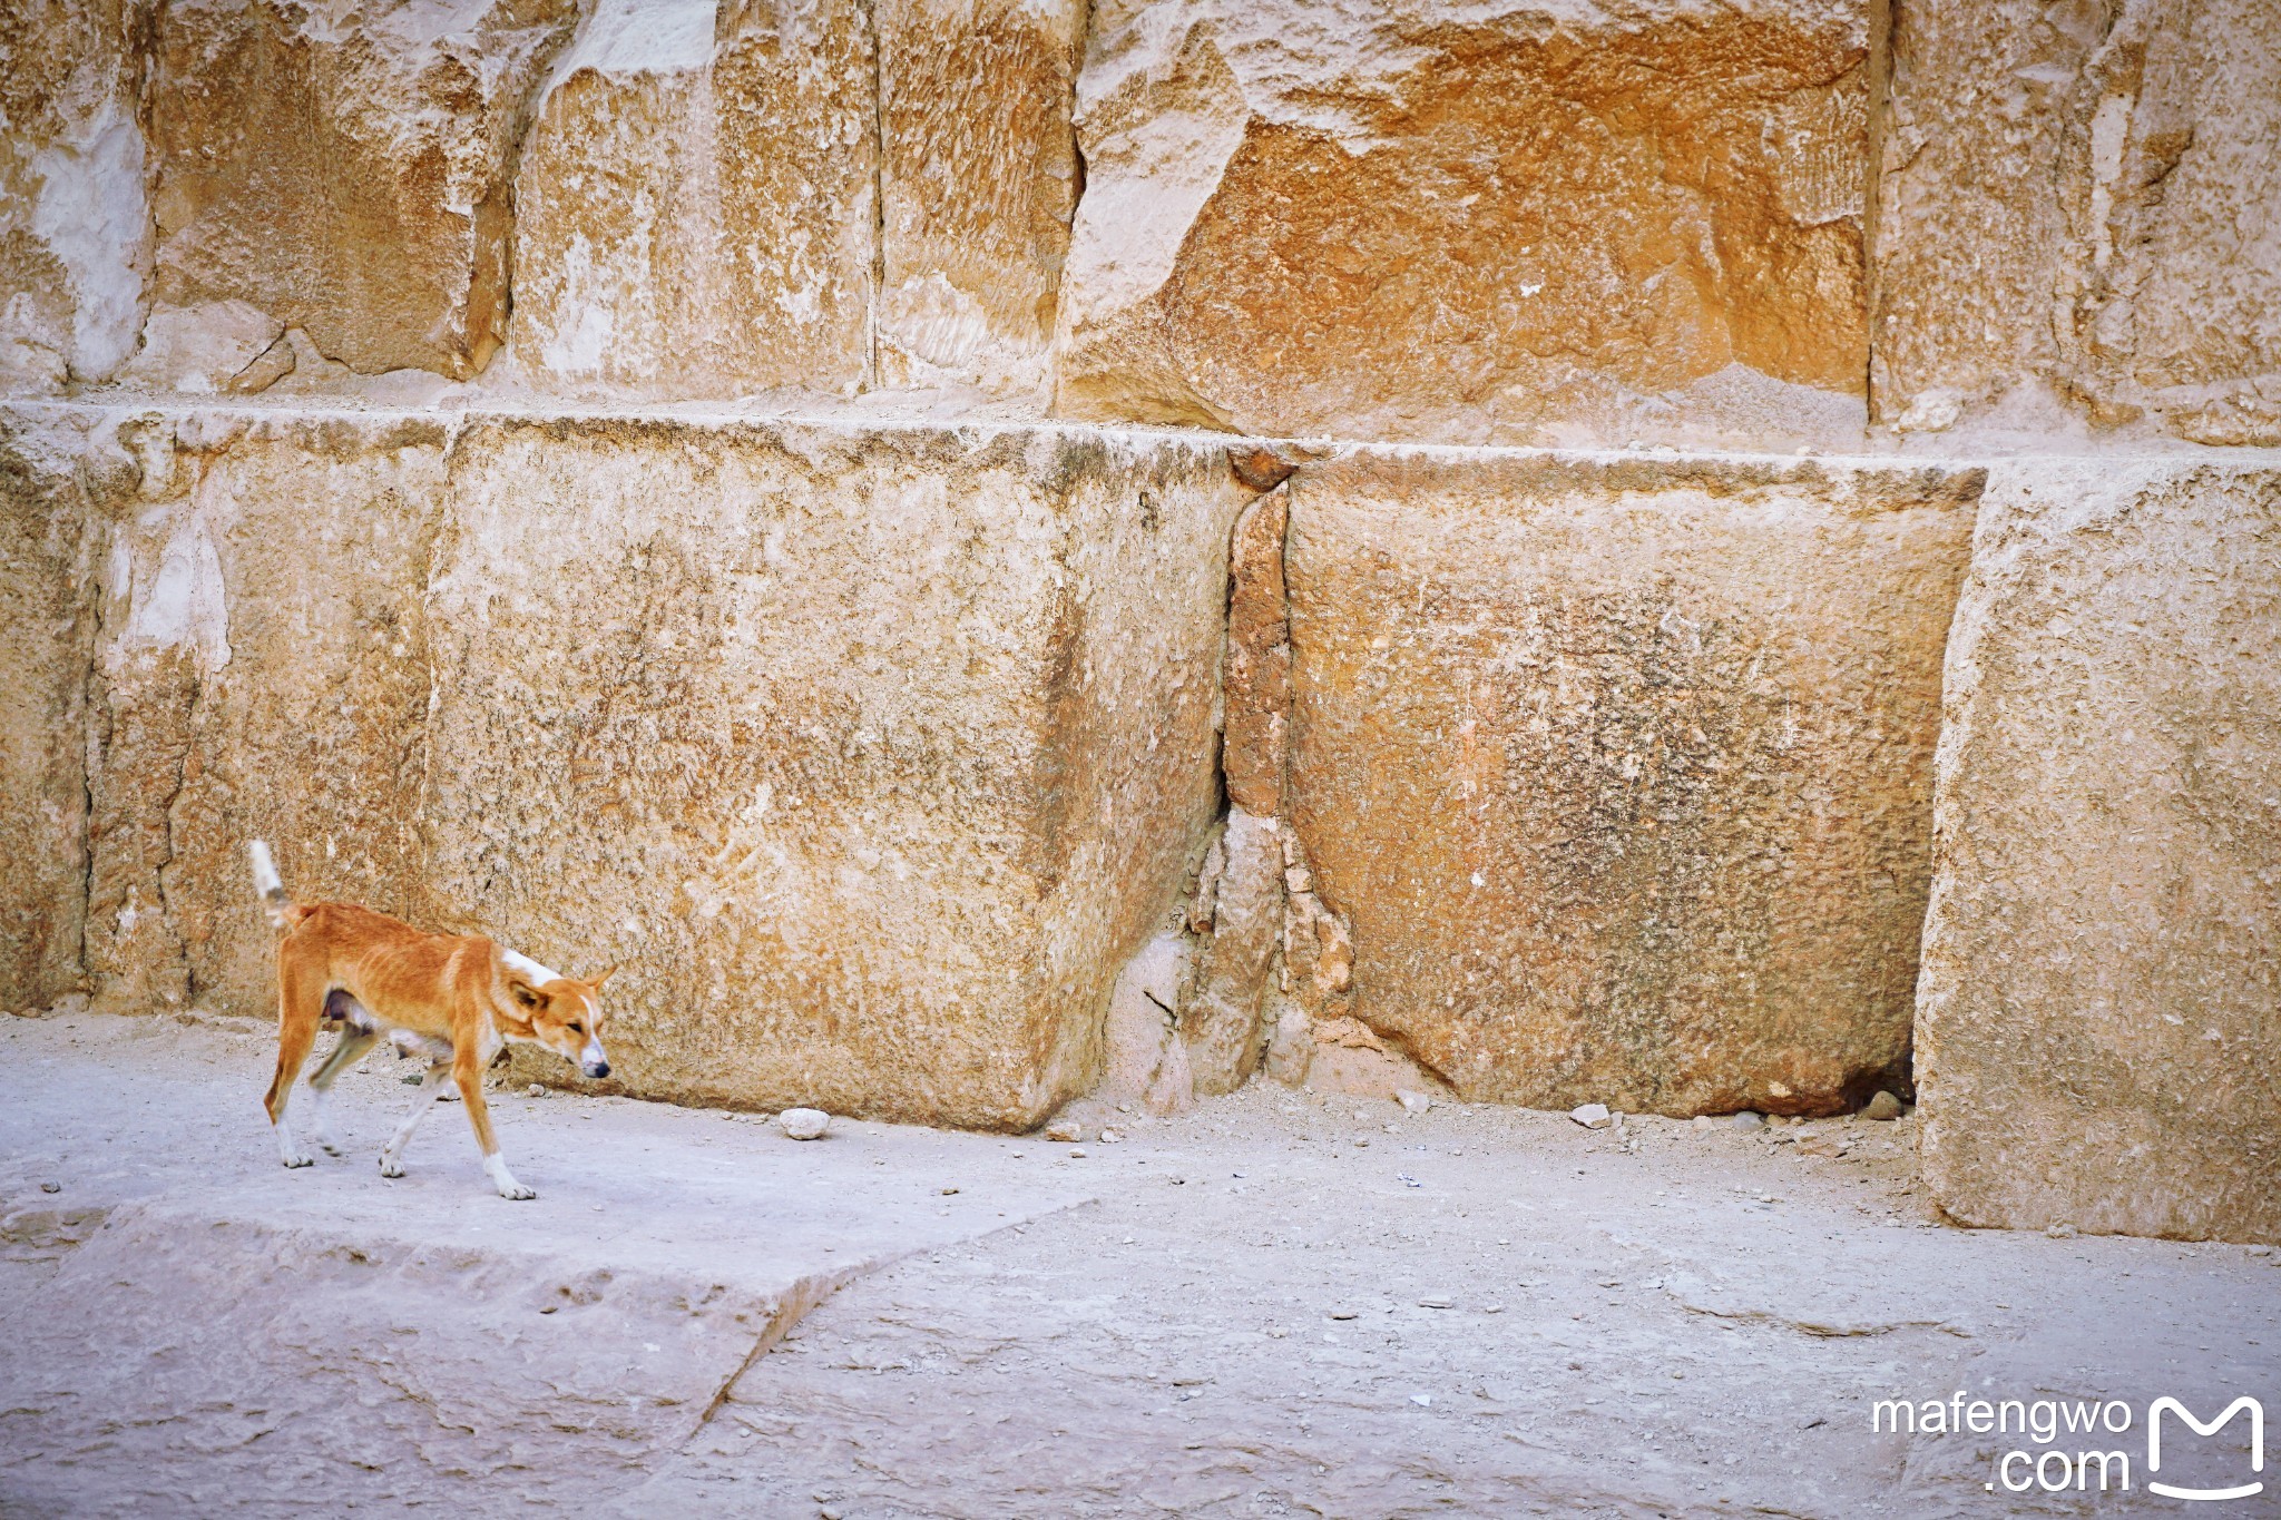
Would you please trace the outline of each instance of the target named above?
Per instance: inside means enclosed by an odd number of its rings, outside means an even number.
[[[103,381],[135,353],[151,271],[139,7],[0,7],[0,387]]]

